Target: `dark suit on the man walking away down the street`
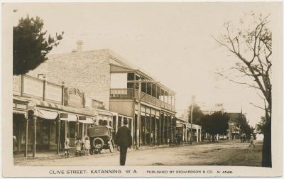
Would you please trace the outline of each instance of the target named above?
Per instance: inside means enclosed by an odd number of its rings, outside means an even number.
[[[131,131],[127,126],[121,126],[116,133],[116,145],[120,148],[120,165],[124,166],[127,148],[132,145]]]

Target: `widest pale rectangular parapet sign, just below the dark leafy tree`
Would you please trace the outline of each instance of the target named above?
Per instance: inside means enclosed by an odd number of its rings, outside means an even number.
[[[33,77],[23,76],[23,93],[35,97],[43,97],[43,81]]]

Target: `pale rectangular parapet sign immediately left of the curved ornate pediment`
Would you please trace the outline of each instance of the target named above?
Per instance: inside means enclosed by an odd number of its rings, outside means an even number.
[[[47,82],[45,87],[45,99],[62,102],[62,87]]]

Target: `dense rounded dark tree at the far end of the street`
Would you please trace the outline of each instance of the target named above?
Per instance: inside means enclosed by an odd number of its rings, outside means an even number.
[[[222,112],[215,112],[211,115],[204,115],[202,118],[202,127],[204,131],[212,134],[212,141],[216,134],[226,134],[229,129],[229,115]]]

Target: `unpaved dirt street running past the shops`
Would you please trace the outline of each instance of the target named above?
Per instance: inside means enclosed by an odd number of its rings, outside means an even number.
[[[193,146],[153,148],[127,153],[126,165],[222,165],[222,166],[261,166],[261,141],[256,148],[240,141],[220,141]],[[116,166],[119,153],[106,153],[94,156],[61,158],[45,161],[24,161],[17,166]]]

